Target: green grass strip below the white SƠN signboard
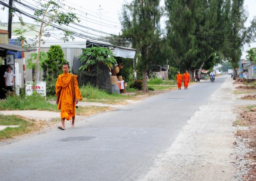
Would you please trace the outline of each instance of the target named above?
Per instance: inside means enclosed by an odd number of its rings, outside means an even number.
[[[0,101],[0,110],[49,110],[57,111],[55,104],[45,101],[40,94],[8,96],[5,101]]]

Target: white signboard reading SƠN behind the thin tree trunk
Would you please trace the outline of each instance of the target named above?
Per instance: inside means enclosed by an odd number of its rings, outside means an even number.
[[[46,82],[45,81],[37,81],[36,84],[36,92],[46,96]],[[26,94],[33,94],[33,81],[26,81]]]

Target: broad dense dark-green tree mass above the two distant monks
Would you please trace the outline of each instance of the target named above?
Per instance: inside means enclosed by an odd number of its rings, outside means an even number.
[[[165,0],[165,3],[169,17],[167,37],[177,66],[183,71],[200,67],[199,74],[203,66],[213,66],[223,43],[215,38],[222,33],[223,0]]]

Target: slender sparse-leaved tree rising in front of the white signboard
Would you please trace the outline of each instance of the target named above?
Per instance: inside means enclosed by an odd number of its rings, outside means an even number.
[[[18,3],[18,2],[17,2]],[[48,32],[49,28],[52,28],[51,25],[68,25],[71,22],[78,21],[79,19],[75,13],[72,12],[64,12],[63,11],[64,0],[59,0],[58,2],[54,0],[39,0],[38,1],[38,9],[34,11],[35,22],[39,25],[39,30],[37,30],[35,25],[29,25],[24,22],[22,15],[18,14],[19,19],[22,25],[27,26],[27,31],[33,30],[38,32],[37,40],[33,43],[33,45],[38,44],[38,52],[40,52],[42,35],[44,32]],[[22,31],[17,31],[18,34],[22,34]],[[69,38],[73,38],[71,31],[64,31],[62,34],[63,36],[60,37],[64,41],[68,40]],[[21,36],[20,39],[25,39],[24,36]],[[25,39],[26,42],[26,39]],[[27,44],[31,46],[30,44]],[[33,77],[33,84],[36,84],[37,80],[37,71],[38,71],[38,64],[39,64],[39,56],[36,58],[36,65],[34,70],[34,77]],[[34,86],[35,87],[35,86]],[[33,89],[35,91],[35,88]]]

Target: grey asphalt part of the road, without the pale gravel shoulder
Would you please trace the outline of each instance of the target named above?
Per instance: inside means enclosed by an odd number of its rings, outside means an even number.
[[[0,147],[1,180],[138,180],[228,76]],[[67,126],[68,127],[68,126]]]

